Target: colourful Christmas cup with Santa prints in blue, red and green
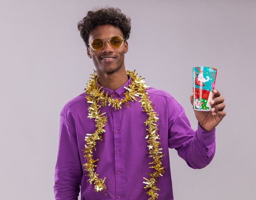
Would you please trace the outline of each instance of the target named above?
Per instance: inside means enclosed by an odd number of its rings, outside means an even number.
[[[214,67],[193,67],[193,108],[197,111],[210,111],[213,99],[217,69]]]

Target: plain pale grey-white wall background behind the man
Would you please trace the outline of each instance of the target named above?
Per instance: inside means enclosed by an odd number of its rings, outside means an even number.
[[[174,199],[254,200],[255,0],[0,0],[0,199],[54,199],[59,113],[94,69],[77,23],[106,4],[132,19],[126,68],[171,93],[193,128],[192,67],[218,68],[216,155],[194,170],[170,149]]]

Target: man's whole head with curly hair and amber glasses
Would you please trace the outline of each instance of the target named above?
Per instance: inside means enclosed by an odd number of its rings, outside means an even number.
[[[98,76],[125,70],[124,53],[128,51],[126,40],[130,28],[130,18],[126,18],[120,9],[112,7],[89,11],[78,23],[87,55],[92,58]],[[115,36],[121,36],[121,40]]]

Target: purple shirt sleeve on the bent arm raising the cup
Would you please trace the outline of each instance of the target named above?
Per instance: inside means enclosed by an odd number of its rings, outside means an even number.
[[[169,148],[175,148],[189,167],[206,167],[215,154],[215,128],[212,131],[204,131],[198,123],[198,129],[194,131],[183,107],[174,98],[168,103],[168,112]]]

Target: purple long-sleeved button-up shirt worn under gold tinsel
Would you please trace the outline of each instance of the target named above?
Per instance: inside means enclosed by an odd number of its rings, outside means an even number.
[[[116,91],[107,88],[113,98],[124,98],[124,93],[131,79]],[[162,152],[165,154],[162,164],[165,167],[163,177],[157,179],[158,199],[173,200],[171,171],[168,148],[175,148],[181,158],[194,168],[207,166],[215,153],[215,129],[204,131],[200,125],[193,131],[182,106],[165,91],[148,89],[150,101],[159,114],[158,133]],[[99,178],[106,177],[106,193],[94,191],[94,184],[87,182],[89,177],[83,168],[85,159],[85,136],[96,130],[94,119],[88,118],[88,103],[85,94],[77,96],[65,104],[61,111],[58,158],[55,169],[54,193],[56,200],[77,200],[81,186],[81,200],[123,199],[147,200],[143,177],[152,173],[148,168],[152,158],[148,158],[146,137],[146,113],[142,112],[139,102],[129,102],[119,110],[107,106],[101,107],[106,112],[106,133],[103,141],[97,140],[94,151],[96,173]]]

